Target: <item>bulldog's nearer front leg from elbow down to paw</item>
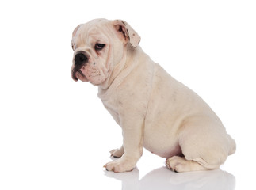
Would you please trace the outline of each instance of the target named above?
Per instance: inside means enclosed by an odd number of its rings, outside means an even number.
[[[121,127],[124,154],[117,161],[104,165],[105,169],[116,173],[132,171],[143,153],[143,120],[122,120]]]

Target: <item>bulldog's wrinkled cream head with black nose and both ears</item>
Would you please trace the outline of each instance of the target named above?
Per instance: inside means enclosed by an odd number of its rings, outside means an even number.
[[[128,42],[137,47],[140,40],[126,22],[105,19],[78,25],[72,36],[72,78],[96,86],[105,82],[123,59]]]

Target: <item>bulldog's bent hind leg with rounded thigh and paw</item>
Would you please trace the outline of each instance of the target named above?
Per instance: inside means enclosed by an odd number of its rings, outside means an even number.
[[[230,139],[221,126],[201,120],[201,126],[189,123],[183,127],[179,145],[185,157],[168,158],[168,168],[177,172],[218,169],[227,159]]]

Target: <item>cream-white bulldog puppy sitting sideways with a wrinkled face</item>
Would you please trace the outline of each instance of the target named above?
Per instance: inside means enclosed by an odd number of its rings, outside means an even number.
[[[122,128],[119,158],[108,171],[132,171],[143,147],[176,172],[217,169],[235,141],[215,112],[191,89],[154,63],[126,21],[95,19],[72,34],[71,76],[98,87],[98,97]]]

